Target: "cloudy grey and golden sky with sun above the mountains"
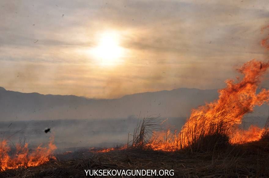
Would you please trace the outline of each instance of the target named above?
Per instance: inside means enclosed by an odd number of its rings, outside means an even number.
[[[0,86],[88,98],[221,88],[267,59],[268,17],[267,1],[2,0]]]

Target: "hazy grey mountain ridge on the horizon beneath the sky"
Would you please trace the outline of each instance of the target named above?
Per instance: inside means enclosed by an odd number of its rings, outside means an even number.
[[[0,87],[0,121],[47,119],[104,119],[186,117],[192,108],[218,98],[217,89],[179,88],[146,92],[118,99],[88,99],[74,95],[44,95],[7,91]]]

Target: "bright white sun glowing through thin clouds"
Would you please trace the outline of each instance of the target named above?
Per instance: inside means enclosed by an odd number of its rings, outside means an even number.
[[[104,32],[98,36],[98,44],[93,49],[94,57],[102,66],[119,64],[123,55],[120,35],[116,32]]]

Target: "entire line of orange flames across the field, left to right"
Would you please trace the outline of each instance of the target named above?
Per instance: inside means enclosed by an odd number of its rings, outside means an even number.
[[[261,32],[267,28],[269,26],[264,27]],[[269,35],[261,41],[261,45],[269,50],[268,40]],[[240,80],[237,77],[237,82],[226,80],[227,86],[218,91],[218,100],[205,103],[205,105],[199,106],[197,109],[192,109],[190,117],[179,132],[176,130],[174,133],[171,133],[170,130],[155,131],[145,146],[143,143],[138,145],[143,145],[143,148],[153,150],[176,151],[187,147],[195,149],[203,144],[207,145],[210,140],[214,142],[222,139],[224,142],[227,141],[231,144],[243,144],[259,140],[264,133],[268,132],[265,129],[266,127],[261,129],[251,125],[248,130],[243,130],[239,126],[246,113],[253,112],[255,106],[268,103],[269,90],[261,89],[257,93],[257,89],[260,89],[259,85],[268,68],[269,62],[257,61],[256,59],[246,62],[238,69],[243,78]],[[269,128],[269,125],[267,127]],[[143,129],[145,127],[141,128],[138,141],[144,142],[145,130]],[[134,142],[132,147],[135,147]],[[128,145],[121,148],[90,148],[89,151],[108,152],[126,148],[128,148]],[[12,150],[6,141],[3,141],[0,148],[0,171],[39,166],[50,160],[49,156],[55,149],[56,146],[53,144],[53,138],[51,138],[47,148],[42,148],[40,145],[35,151],[29,151],[28,144],[24,146],[17,144],[15,153],[10,155]],[[68,153],[70,152],[65,152],[64,154]]]

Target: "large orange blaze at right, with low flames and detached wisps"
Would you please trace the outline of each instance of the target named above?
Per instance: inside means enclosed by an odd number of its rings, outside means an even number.
[[[269,28],[264,27],[263,30]],[[269,35],[261,41],[261,45],[269,50]],[[248,130],[239,127],[243,116],[252,112],[255,106],[269,101],[269,90],[261,89],[259,84],[269,67],[269,62],[252,59],[238,69],[243,78],[235,82],[226,80],[227,86],[220,89],[219,99],[205,103],[193,109],[190,117],[180,132],[170,131],[153,133],[147,147],[154,150],[176,151],[186,147],[201,147],[202,142],[223,139],[231,144],[242,144],[261,138],[264,129],[250,126]],[[192,149],[192,148],[191,148]]]

